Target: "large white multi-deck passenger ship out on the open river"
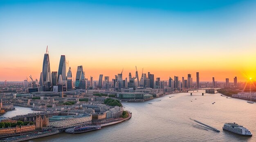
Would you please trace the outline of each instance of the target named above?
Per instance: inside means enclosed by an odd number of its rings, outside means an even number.
[[[238,135],[247,135],[252,136],[252,133],[245,127],[234,123],[225,123],[222,127],[223,130],[230,131],[232,133],[236,133]]]

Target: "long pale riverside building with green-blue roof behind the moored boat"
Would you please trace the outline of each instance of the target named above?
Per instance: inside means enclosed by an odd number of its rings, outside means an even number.
[[[78,125],[92,123],[92,115],[79,116],[52,116],[49,118],[49,127],[56,129],[65,129]]]

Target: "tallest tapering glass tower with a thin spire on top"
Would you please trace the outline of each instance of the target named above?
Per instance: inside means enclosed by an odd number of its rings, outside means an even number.
[[[48,53],[48,46],[43,59],[43,71],[42,71],[42,84],[45,85],[45,91],[49,91],[52,87],[52,76],[50,69],[50,60]]]

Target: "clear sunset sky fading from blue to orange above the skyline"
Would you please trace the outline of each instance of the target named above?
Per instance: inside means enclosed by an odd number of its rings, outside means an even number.
[[[255,0],[0,0],[0,81],[40,77],[66,56],[75,78],[256,78]]]

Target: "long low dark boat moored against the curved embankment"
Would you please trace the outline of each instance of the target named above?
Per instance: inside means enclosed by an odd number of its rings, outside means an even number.
[[[101,129],[101,126],[99,125],[82,125],[82,126],[76,126],[73,128],[66,129],[66,133],[84,133],[88,131],[94,131]]]

